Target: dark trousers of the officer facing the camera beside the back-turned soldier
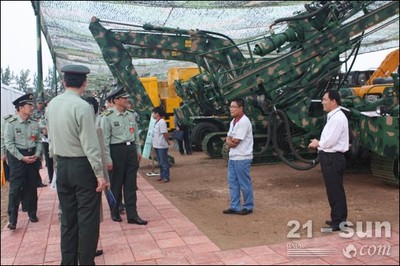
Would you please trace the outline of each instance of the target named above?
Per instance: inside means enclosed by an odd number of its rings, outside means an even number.
[[[123,191],[127,219],[134,219],[138,215],[136,209],[136,175],[139,169],[139,162],[136,146],[112,144],[110,145],[110,152],[113,162],[110,185],[111,191],[117,200],[117,204],[111,211],[111,215],[119,215],[119,206],[121,205]]]

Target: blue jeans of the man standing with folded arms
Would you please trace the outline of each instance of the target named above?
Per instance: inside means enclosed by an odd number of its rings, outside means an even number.
[[[250,177],[252,160],[228,161],[228,184],[230,194],[230,209],[240,211],[254,208],[253,185]],[[240,192],[243,194],[243,206],[240,206]]]

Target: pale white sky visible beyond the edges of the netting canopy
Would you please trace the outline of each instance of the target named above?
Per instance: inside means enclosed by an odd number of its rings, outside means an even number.
[[[352,70],[376,69],[391,50],[359,55]],[[42,65],[45,78],[53,63],[43,34]],[[1,67],[7,66],[15,74],[26,69],[31,75],[38,73],[36,17],[31,1],[1,1]]]

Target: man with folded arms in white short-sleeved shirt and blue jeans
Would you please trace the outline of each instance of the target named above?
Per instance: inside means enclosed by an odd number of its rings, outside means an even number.
[[[232,100],[229,109],[234,117],[226,138],[226,144],[229,147],[230,207],[222,213],[247,215],[252,213],[254,208],[250,177],[250,165],[253,160],[253,130],[249,118],[244,114],[243,99]],[[240,204],[240,192],[243,194],[243,206]]]

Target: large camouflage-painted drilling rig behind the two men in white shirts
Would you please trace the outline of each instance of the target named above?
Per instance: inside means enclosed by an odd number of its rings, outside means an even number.
[[[250,103],[247,113],[255,123],[255,132],[267,135],[265,145],[255,146],[255,153],[264,152],[272,144],[282,161],[299,170],[309,169],[316,162],[300,152],[310,139],[320,134],[324,114],[319,99],[326,89],[334,88],[334,77],[343,63],[340,55],[348,50],[356,53],[366,37],[364,31],[378,24],[383,27],[398,23],[399,14],[396,2],[323,1],[305,5],[305,8],[305,12],[294,17],[275,21],[270,27],[271,35],[255,40],[253,52],[249,51],[254,57],[278,51],[279,57],[261,62],[250,60],[239,68],[219,73],[206,69],[209,85],[215,91],[222,91],[227,101],[252,97],[247,98]],[[287,24],[286,30],[275,33],[273,27],[283,22]],[[252,47],[253,42],[244,45]],[[224,53],[224,49],[218,52]],[[398,184],[398,84],[388,86],[384,97],[373,104],[366,104],[362,99],[347,100],[350,102],[344,107],[348,110],[352,140],[359,136],[360,143],[369,152],[389,159],[391,163],[386,173],[390,177],[386,180]],[[385,116],[364,115],[371,108],[375,111],[377,106],[386,107]],[[255,140],[256,144],[262,143],[257,141],[257,135]],[[304,164],[285,158],[287,151]],[[357,159],[357,155],[356,152],[348,159]]]

